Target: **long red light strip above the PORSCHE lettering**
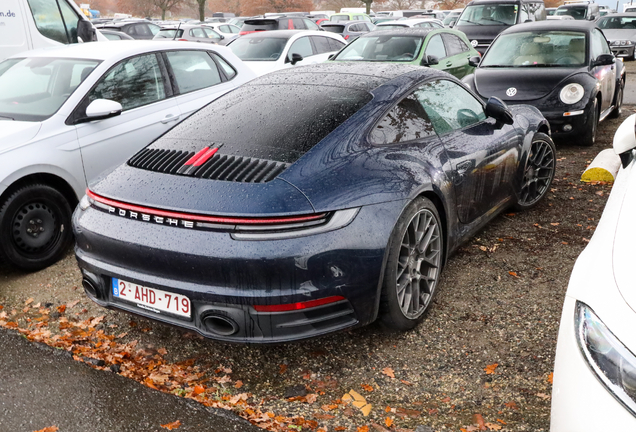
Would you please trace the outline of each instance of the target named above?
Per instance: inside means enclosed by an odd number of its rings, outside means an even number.
[[[234,218],[234,217],[218,217],[218,216],[200,216],[189,213],[178,213],[166,210],[157,210],[149,207],[141,207],[132,204],[126,204],[119,201],[114,201],[108,198],[97,195],[91,190],[86,190],[86,195],[97,202],[106,204],[118,209],[129,210],[139,213],[144,213],[153,216],[161,216],[167,218],[185,219],[189,221],[208,222],[208,223],[222,223],[222,224],[284,224],[291,222],[306,222],[324,218],[327,214],[320,213],[316,215],[308,216],[288,216],[279,218]]]

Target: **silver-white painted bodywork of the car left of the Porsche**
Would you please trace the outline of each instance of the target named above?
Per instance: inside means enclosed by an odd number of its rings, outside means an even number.
[[[237,75],[225,83],[124,111],[116,117],[65,124],[87,92],[116,63],[134,55],[174,49],[214,51],[236,69]],[[0,157],[10,161],[0,164],[0,195],[25,176],[47,173],[67,182],[79,199],[93,180],[107,174],[192,112],[256,77],[229,48],[189,42],[95,42],[34,50],[14,57],[27,56],[94,59],[101,63],[48,119],[41,122],[0,119]]]

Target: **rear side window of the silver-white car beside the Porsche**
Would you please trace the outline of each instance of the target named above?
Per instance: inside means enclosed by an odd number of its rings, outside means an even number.
[[[205,51],[168,51],[166,57],[181,94],[221,82],[216,64]]]

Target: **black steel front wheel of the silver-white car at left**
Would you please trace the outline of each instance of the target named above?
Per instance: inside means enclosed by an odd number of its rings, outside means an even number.
[[[0,205],[0,238],[0,258],[27,271],[46,268],[71,244],[71,206],[50,186],[24,186]]]

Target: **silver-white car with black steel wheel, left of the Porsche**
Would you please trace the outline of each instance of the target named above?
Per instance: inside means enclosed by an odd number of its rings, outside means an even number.
[[[225,47],[73,44],[0,63],[0,261],[55,262],[89,182],[254,73]]]

